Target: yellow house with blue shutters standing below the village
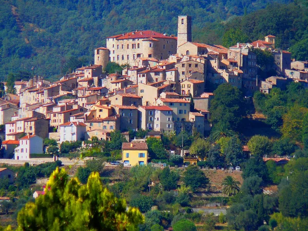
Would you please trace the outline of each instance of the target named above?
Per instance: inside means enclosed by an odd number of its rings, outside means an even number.
[[[134,165],[147,165],[148,147],[145,142],[131,142],[122,144],[122,161]]]

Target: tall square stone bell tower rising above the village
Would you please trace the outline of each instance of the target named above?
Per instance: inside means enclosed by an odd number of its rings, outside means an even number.
[[[191,42],[191,16],[178,17],[178,47],[186,42]]]

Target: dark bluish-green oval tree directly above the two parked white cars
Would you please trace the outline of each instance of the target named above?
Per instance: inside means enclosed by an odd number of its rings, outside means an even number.
[[[225,163],[238,166],[244,161],[244,154],[241,141],[238,138],[231,138],[224,150]]]

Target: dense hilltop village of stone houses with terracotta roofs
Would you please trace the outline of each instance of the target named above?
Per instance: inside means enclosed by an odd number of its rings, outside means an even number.
[[[275,70],[275,75],[258,79],[254,49],[271,52],[273,65],[265,68]],[[125,68],[108,74],[104,70],[109,62]],[[307,80],[308,63],[294,61],[290,52],[275,47],[274,35],[229,48],[196,43],[191,17],[179,16],[177,37],[151,30],[109,36],[106,47],[94,50],[93,65],[53,83],[40,76],[15,82],[16,94],[6,94],[0,105],[3,158],[28,160],[31,154],[44,152],[46,138],[60,143],[93,137],[110,140],[115,130],[127,142],[130,130],[148,130],[149,137],[183,130],[204,135],[211,129],[211,86],[229,83],[249,97],[255,91],[269,93],[273,87],[283,90],[292,81],[307,88]],[[142,140],[126,146],[147,149]],[[122,161],[147,164],[141,154],[142,160],[123,155]]]

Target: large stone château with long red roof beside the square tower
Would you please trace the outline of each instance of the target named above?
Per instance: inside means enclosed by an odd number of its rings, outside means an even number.
[[[138,57],[162,60],[167,59],[170,54],[175,54],[177,38],[152,30],[132,31],[107,37],[106,47],[110,51],[109,61],[134,66],[134,61]],[[102,49],[100,53],[101,51]],[[107,51],[104,54],[106,53]],[[98,57],[97,55],[96,59],[99,59]]]

